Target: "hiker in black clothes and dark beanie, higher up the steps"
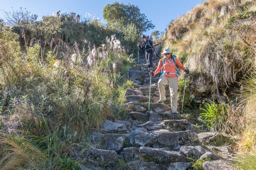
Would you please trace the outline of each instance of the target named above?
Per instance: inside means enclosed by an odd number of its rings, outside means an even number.
[[[152,40],[148,39],[145,35],[142,34],[142,43],[141,46],[140,44],[137,44],[137,46],[142,50],[145,51],[145,56],[146,56],[146,60],[147,60],[147,65],[148,65],[148,69],[152,70],[153,68],[153,62],[152,62],[152,58],[153,58],[153,48],[155,43],[153,43]]]

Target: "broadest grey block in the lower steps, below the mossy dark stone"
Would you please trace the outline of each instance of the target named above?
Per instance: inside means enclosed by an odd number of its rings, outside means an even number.
[[[190,130],[159,133],[157,135],[157,142],[162,147],[169,147],[172,149],[180,149],[181,145],[189,144],[197,140],[197,136]]]

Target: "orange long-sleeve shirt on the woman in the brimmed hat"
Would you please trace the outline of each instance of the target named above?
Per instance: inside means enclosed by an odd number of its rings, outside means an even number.
[[[165,56],[164,56],[165,57]],[[183,71],[186,70],[186,67],[184,67],[180,60],[176,57],[174,57],[175,59],[175,62],[176,62],[176,65],[179,66]],[[169,63],[170,61],[170,63]],[[164,62],[164,65],[163,65],[163,72],[164,73],[168,73],[168,72],[171,72],[171,73],[176,73],[176,69],[175,69],[175,64],[173,62],[173,60],[170,58],[168,61],[168,59],[165,57],[165,62]],[[157,69],[154,71],[154,74],[156,75],[157,73],[159,73],[161,71],[161,68],[162,68],[162,64],[163,64],[163,58],[160,59],[160,61],[158,62],[158,66],[157,66]],[[178,77],[176,74],[164,74],[164,76],[166,77],[169,77],[169,78],[172,78],[172,77]]]

